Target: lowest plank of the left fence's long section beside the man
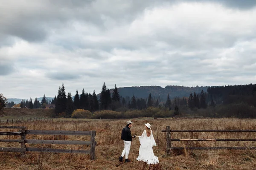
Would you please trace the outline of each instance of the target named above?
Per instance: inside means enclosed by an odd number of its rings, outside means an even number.
[[[27,152],[52,152],[52,153],[90,153],[90,150],[70,150],[70,149],[52,149],[52,148],[38,148],[26,147]]]

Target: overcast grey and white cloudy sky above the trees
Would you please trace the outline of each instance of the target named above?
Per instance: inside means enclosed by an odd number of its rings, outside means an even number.
[[[255,0],[0,0],[0,93],[256,83]]]

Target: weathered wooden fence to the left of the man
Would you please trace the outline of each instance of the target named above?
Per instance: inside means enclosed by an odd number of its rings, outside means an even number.
[[[26,152],[52,152],[52,153],[88,153],[95,159],[96,131],[73,130],[26,130],[25,126],[0,126],[0,129],[20,129],[18,132],[0,132],[0,135],[21,136],[21,139],[0,139],[0,142],[19,142],[20,147],[0,147],[0,152],[20,152],[23,156]],[[90,141],[65,141],[65,140],[37,140],[26,139],[26,135],[88,135]],[[90,145],[90,150],[53,149],[44,147],[26,147],[26,144],[81,144]]]

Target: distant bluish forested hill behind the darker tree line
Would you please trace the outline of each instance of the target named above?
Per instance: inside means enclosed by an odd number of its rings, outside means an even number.
[[[148,98],[148,94],[151,93],[152,97],[158,98],[160,97],[163,100],[166,100],[167,94],[169,94],[171,99],[175,97],[189,97],[190,92],[192,94],[195,92],[199,94],[202,89],[203,91],[207,91],[209,86],[201,86],[201,87],[186,87],[186,86],[177,86],[177,85],[168,85],[165,88],[160,86],[140,86],[140,87],[123,87],[118,88],[119,95],[126,97],[137,96],[138,98]],[[112,92],[113,89],[111,89]]]

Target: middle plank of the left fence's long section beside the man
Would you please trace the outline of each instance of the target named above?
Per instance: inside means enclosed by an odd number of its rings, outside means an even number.
[[[61,141],[61,140],[33,140],[27,139],[25,143],[28,144],[84,144],[89,145],[91,144],[90,141]]]

